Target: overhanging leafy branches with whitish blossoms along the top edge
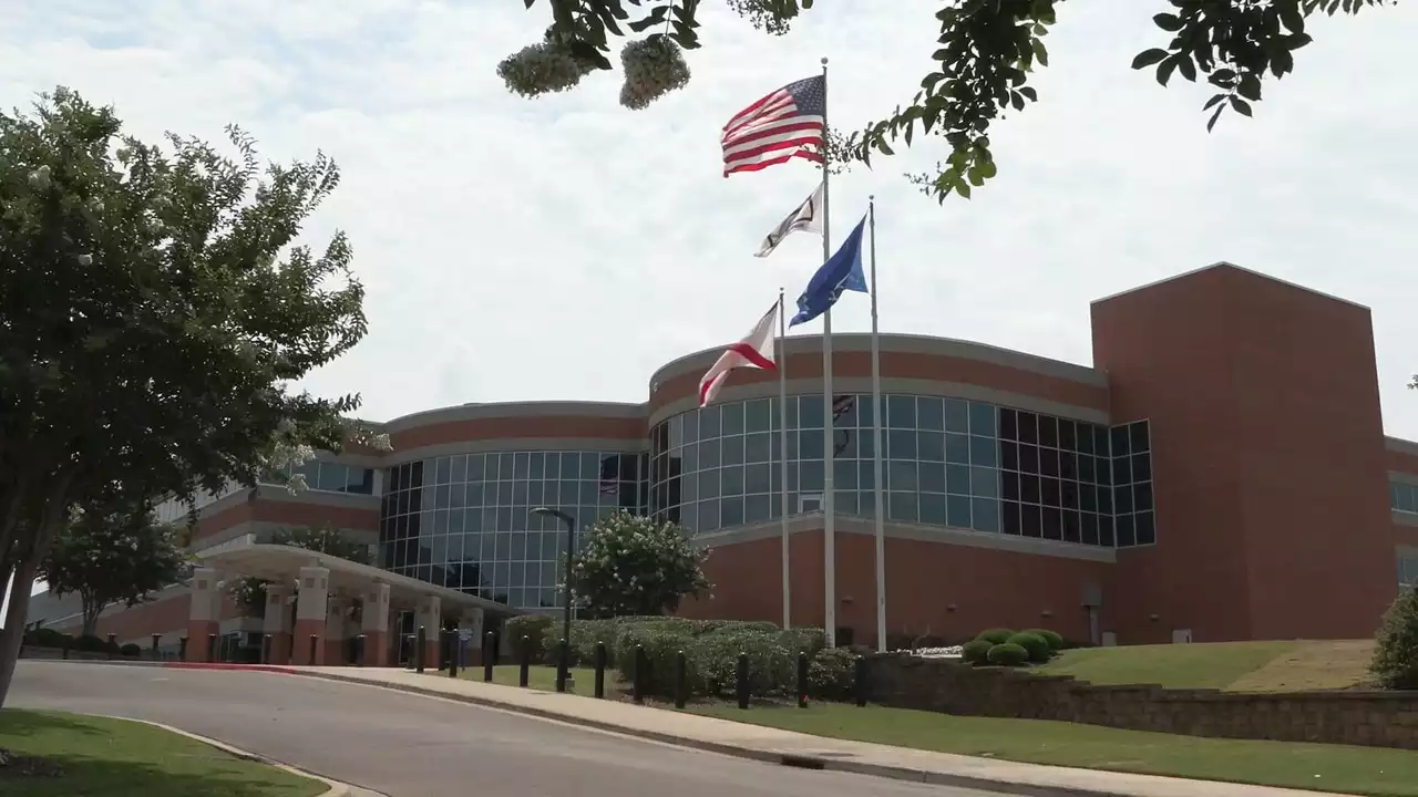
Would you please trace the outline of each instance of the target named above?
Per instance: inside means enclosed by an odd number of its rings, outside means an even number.
[[[995,176],[990,125],[1010,111],[1024,111],[1038,99],[1029,74],[1048,67],[1044,44],[1062,0],[936,0],[940,11],[934,68],[906,106],[865,125],[845,142],[845,152],[864,163],[872,153],[892,155],[892,143],[916,135],[946,139],[950,156],[934,174],[912,182],[937,200],[956,193],[970,197]],[[525,0],[530,9],[536,0]],[[1314,14],[1357,14],[1397,0],[1154,0],[1153,23],[1171,37],[1164,47],[1133,58],[1134,69],[1153,69],[1163,87],[1181,75],[1204,78],[1217,94],[1202,111],[1210,130],[1225,111],[1251,116],[1269,75],[1282,78],[1295,68],[1295,51],[1310,43],[1306,20]],[[1141,3],[1134,3],[1141,6]],[[644,108],[654,98],[683,87],[689,67],[681,50],[699,47],[699,0],[550,0],[552,27],[545,41],[508,57],[498,74],[509,89],[536,96],[566,91],[597,69],[610,69],[608,37],[628,37],[655,28],[621,51],[625,85],[621,104]],[[632,14],[628,7],[654,6]],[[729,0],[754,27],[773,35],[788,33],[813,0]],[[1139,9],[1136,13],[1144,13]],[[625,30],[623,30],[623,27]],[[628,31],[628,33],[627,33]],[[831,145],[831,142],[830,142]],[[830,146],[830,149],[837,149]],[[837,156],[837,153],[830,153]]]

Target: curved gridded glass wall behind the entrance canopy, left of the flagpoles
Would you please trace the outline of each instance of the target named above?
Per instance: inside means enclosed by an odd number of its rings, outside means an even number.
[[[560,606],[566,528],[532,515],[560,509],[577,529],[644,512],[642,454],[501,451],[407,462],[386,471],[381,563],[394,573],[519,608]]]

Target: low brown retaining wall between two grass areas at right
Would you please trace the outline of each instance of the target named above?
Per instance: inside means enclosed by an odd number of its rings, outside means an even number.
[[[1248,695],[1153,685],[1095,686],[1069,676],[977,669],[905,655],[875,657],[871,664],[872,701],[903,709],[1418,750],[1418,692]]]

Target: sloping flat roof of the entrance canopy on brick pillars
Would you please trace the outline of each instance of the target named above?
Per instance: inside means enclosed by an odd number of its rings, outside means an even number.
[[[329,556],[318,550],[257,543],[252,535],[213,546],[197,556],[203,567],[211,567],[227,574],[252,576],[268,581],[295,581],[299,577],[301,567],[325,567],[329,570],[330,594],[357,598],[374,584],[389,584],[389,603],[396,608],[413,610],[420,600],[437,597],[445,614],[458,614],[475,608],[481,608],[492,617],[523,614],[498,601],[390,573],[370,564]]]

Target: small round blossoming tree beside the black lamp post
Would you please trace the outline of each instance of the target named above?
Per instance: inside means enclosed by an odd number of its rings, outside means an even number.
[[[709,591],[708,554],[676,523],[615,512],[587,530],[571,564],[571,591],[594,617],[668,614],[685,596]]]

